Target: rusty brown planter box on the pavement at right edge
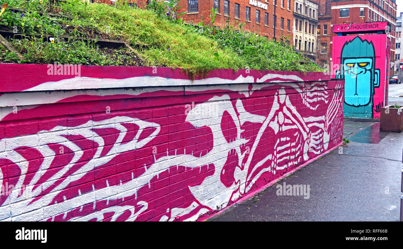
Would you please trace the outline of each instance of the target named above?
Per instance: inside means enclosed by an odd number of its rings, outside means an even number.
[[[391,108],[393,105],[382,107],[380,112],[381,132],[402,132],[403,131],[403,107]]]

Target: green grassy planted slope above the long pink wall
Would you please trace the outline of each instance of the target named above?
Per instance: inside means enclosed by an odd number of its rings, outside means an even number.
[[[0,62],[53,63],[86,65],[134,65],[182,68],[188,74],[205,74],[218,68],[260,70],[322,71],[284,43],[226,25],[212,35],[212,28],[195,27],[172,20],[160,1],[152,0],[147,9],[127,4],[85,4],[81,0],[10,0],[9,6],[29,11],[12,13],[7,9],[0,24],[17,27],[26,39],[10,39],[24,56],[0,53]],[[41,13],[60,13],[49,18]],[[24,14],[24,16],[21,16]],[[58,24],[61,26],[59,27]],[[41,34],[35,37],[36,33]],[[131,44],[143,58],[140,61],[127,49],[103,49],[91,42],[64,41],[62,35],[118,39]],[[51,43],[49,37],[54,37]]]

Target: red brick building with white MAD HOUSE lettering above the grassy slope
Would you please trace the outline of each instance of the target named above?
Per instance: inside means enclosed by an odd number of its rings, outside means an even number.
[[[280,39],[292,38],[294,0],[181,0],[181,11],[188,11],[184,20],[210,24],[211,8],[217,8],[215,25],[224,27],[245,23],[244,30]],[[182,17],[182,16],[181,16]]]

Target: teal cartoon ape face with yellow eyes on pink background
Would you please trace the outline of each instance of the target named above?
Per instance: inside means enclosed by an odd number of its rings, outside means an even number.
[[[354,107],[370,105],[374,87],[379,86],[372,42],[356,37],[346,43],[341,51],[341,70],[337,77],[345,79],[345,104]]]

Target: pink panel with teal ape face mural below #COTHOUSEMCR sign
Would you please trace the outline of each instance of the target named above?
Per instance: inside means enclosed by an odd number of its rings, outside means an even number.
[[[387,35],[333,38],[335,77],[345,79],[345,116],[380,118],[387,101],[386,45]]]

